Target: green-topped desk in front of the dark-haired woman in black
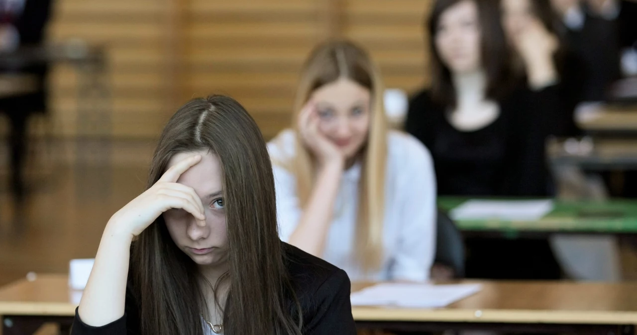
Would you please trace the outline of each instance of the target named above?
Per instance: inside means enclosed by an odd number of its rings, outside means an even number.
[[[441,196],[438,206],[452,210],[461,205],[465,197]],[[608,200],[605,202],[568,202],[555,200],[552,212],[538,221],[462,220],[455,221],[466,235],[505,235],[510,238],[550,235],[552,233],[577,234],[637,234],[637,201]]]

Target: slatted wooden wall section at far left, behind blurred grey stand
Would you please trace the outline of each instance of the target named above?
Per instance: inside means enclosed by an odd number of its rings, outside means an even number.
[[[110,126],[100,133],[78,123],[78,73],[56,65],[49,78],[50,110],[61,136],[150,137],[172,112],[166,104],[168,0],[57,0],[50,41],[82,39],[106,48]],[[96,104],[99,102],[96,101]],[[105,132],[105,133],[102,133]]]

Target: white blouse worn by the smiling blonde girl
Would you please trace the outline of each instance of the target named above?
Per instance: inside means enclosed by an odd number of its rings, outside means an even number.
[[[285,130],[268,143],[275,176],[279,234],[284,242],[289,241],[302,210],[294,175],[276,162],[294,156],[295,140],[294,131]],[[436,178],[431,154],[411,135],[388,133],[384,256],[380,269],[369,273],[360,270],[354,259],[360,177],[360,163],[343,172],[323,259],[345,270],[352,281],[427,280],[436,250]]]

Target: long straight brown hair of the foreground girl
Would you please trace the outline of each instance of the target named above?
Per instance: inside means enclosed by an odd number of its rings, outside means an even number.
[[[182,106],[161,134],[148,188],[175,154],[201,150],[215,154],[222,170],[229,246],[223,280],[230,287],[223,308],[225,334],[301,334],[301,308],[278,238],[268,151],[238,102],[217,95]],[[198,284],[203,277],[175,245],[162,216],[138,236],[131,259],[142,334],[203,335],[201,313],[207,308]]]

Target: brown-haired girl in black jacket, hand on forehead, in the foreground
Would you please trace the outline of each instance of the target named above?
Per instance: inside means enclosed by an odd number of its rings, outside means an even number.
[[[268,151],[235,100],[168,121],[111,217],[72,334],[355,334],[343,270],[278,238]]]

